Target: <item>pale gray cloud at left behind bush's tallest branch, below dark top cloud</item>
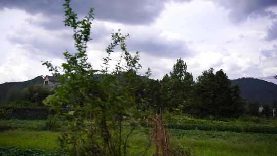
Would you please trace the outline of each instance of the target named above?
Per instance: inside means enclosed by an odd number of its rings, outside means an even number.
[[[91,32],[92,42],[101,42],[103,38],[110,36],[111,32],[112,30],[108,30],[102,23],[94,24]],[[14,29],[12,33],[6,35],[6,39],[12,44],[31,45],[33,48],[44,51],[45,54],[63,57],[62,54],[66,50],[70,53],[76,52],[72,34],[72,31],[68,29],[42,30],[30,23],[30,25]]]

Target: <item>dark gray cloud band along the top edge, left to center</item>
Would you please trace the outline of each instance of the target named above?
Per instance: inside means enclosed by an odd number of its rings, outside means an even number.
[[[71,5],[76,13],[84,16],[89,8],[95,8],[95,18],[103,21],[119,22],[125,24],[150,24],[155,21],[166,2],[186,2],[191,0],[128,0],[128,1],[102,1],[102,0],[74,0]],[[63,0],[2,0],[1,8],[18,8],[34,14],[42,14],[48,17],[50,21],[41,22],[48,29],[56,29],[63,26],[64,15]]]

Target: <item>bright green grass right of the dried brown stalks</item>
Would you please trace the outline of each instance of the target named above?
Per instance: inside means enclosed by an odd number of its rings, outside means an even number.
[[[277,135],[200,130],[173,130],[184,147],[198,155],[276,155]]]

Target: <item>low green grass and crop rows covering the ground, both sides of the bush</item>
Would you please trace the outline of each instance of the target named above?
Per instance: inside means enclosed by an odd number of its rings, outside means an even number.
[[[244,125],[270,123],[273,125],[276,122],[273,119],[246,116],[244,118],[226,121],[196,119],[190,116],[186,116],[184,119],[186,121],[183,121],[183,124],[195,124],[199,122],[200,125],[216,122],[226,124],[242,122]],[[32,151],[34,153],[57,154],[56,151],[59,151],[58,149],[60,148],[57,139],[65,129],[60,129],[56,132],[49,131],[46,129],[48,122],[47,120],[0,120],[0,127],[14,127],[13,130],[0,133],[2,152],[10,154],[11,152],[18,153],[20,151],[29,153]],[[123,131],[125,129],[127,131],[131,129],[128,126],[129,124],[129,122],[124,124]],[[89,126],[89,124],[87,125]],[[168,133],[173,143],[181,145],[183,147],[182,149],[190,150],[190,153],[195,155],[275,155],[277,153],[274,150],[274,147],[277,145],[277,134],[221,132],[211,129],[200,130],[198,128],[192,130],[169,129]],[[136,128],[130,138],[131,148],[129,152],[133,154],[143,152],[149,143],[148,137],[148,127]],[[147,155],[152,155],[154,151],[155,146],[151,144]]]

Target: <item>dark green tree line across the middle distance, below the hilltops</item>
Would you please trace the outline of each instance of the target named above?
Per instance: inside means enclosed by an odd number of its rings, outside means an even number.
[[[213,68],[205,70],[195,82],[192,74],[188,72],[186,62],[177,59],[172,71],[165,74],[161,80],[150,79],[150,69],[144,76],[138,75],[134,70],[128,70],[126,73],[117,75],[117,79],[123,80],[122,85],[124,80],[127,80],[127,73],[134,75],[130,85],[135,92],[136,107],[143,111],[148,109],[154,109],[156,112],[177,111],[200,118],[206,116],[229,118],[242,114],[261,115],[258,113],[260,104],[246,102],[240,95],[239,87],[231,84],[222,69],[216,72]],[[53,94],[53,91],[42,84],[30,85],[23,90],[10,89],[7,92],[6,102],[43,106],[42,101],[50,94]],[[276,102],[273,106],[275,105],[277,105]],[[262,114],[270,116],[270,106],[264,107]]]

